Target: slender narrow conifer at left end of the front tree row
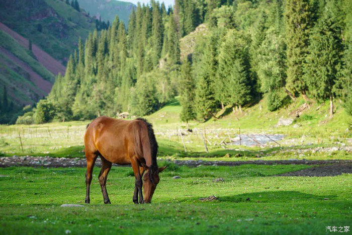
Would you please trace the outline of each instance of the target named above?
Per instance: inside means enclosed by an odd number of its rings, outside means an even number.
[[[194,110],[195,81],[191,74],[191,63],[186,59],[181,66],[181,81],[179,86],[182,121],[190,121],[196,118]]]

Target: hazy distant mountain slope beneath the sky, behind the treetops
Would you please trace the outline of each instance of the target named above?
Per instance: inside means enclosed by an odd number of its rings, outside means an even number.
[[[78,0],[78,3],[91,16],[95,16],[97,19],[101,17],[102,20],[110,21],[110,23],[118,15],[126,26],[128,25],[128,18],[132,9],[136,7],[131,3],[115,0]]]

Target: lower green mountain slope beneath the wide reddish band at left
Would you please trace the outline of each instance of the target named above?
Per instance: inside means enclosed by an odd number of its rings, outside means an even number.
[[[46,69],[17,40],[0,31],[0,88],[7,88],[16,106],[37,102],[52,87],[54,74]]]

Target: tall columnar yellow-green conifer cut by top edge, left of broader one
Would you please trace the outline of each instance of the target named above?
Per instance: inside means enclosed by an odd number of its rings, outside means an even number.
[[[288,0],[286,3],[286,44],[287,44],[287,89],[293,96],[305,95],[307,87],[303,79],[304,60],[308,52],[309,38],[308,0]]]

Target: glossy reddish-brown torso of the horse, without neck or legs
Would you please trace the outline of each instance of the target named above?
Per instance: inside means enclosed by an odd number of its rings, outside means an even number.
[[[129,156],[136,149],[135,132],[140,124],[140,120],[99,117],[85,132],[85,151],[99,152],[112,163],[129,164]]]

